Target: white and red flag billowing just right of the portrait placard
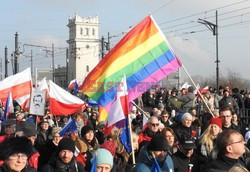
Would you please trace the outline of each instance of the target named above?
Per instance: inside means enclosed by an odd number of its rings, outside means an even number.
[[[49,81],[50,113],[53,115],[70,115],[82,108],[84,101],[65,91],[51,80]]]

